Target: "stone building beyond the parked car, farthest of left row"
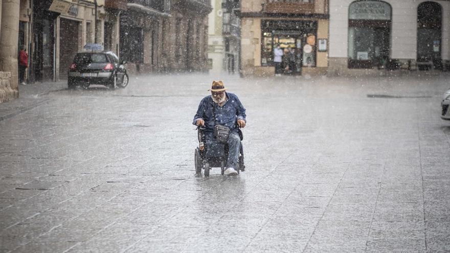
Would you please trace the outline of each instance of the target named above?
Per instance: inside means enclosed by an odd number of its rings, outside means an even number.
[[[121,15],[121,57],[132,72],[208,70],[208,0],[130,1]]]

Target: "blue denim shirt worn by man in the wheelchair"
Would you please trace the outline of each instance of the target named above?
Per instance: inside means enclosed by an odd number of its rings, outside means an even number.
[[[233,132],[237,132],[236,121],[238,119],[246,122],[245,108],[241,101],[232,93],[226,93],[226,96],[228,100],[223,106],[218,106],[214,103],[211,96],[203,98],[198,105],[197,113],[195,113],[192,124],[195,125],[198,119],[203,119],[205,121],[205,135],[207,137],[212,138],[214,136],[215,123],[213,119],[213,106],[215,108],[217,124],[229,127]]]

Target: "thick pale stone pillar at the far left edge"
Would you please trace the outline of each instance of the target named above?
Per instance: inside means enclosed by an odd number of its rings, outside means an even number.
[[[1,0],[0,2],[2,3],[0,71],[11,73],[10,87],[6,90],[6,100],[10,100],[18,97],[17,43],[20,0]]]

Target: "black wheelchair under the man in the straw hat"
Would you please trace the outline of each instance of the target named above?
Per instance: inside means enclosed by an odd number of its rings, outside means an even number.
[[[198,147],[194,151],[195,173],[199,175],[203,169],[204,174],[207,177],[212,168],[219,167],[220,174],[223,176],[225,164],[228,159],[228,144],[223,144],[223,150],[221,150],[222,152],[220,152],[220,154],[207,157],[208,145],[204,134],[205,129],[205,126],[197,127]],[[237,171],[237,174],[239,174],[239,171],[245,171],[244,150],[242,147],[243,134],[239,128],[238,133],[241,139],[241,145],[239,149],[238,168],[234,168]]]

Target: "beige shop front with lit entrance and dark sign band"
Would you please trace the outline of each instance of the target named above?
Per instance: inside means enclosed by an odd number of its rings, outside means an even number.
[[[328,19],[242,16],[242,76],[323,75],[328,66]],[[258,35],[258,36],[255,36]],[[282,53],[276,50],[280,47]],[[275,52],[281,55],[275,57]]]

